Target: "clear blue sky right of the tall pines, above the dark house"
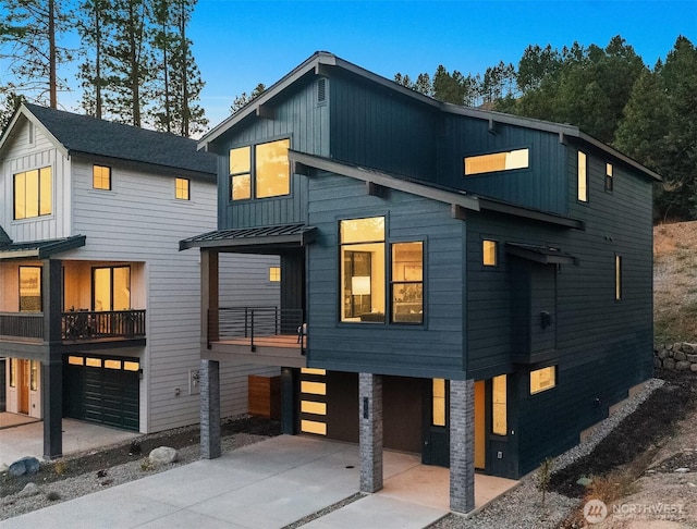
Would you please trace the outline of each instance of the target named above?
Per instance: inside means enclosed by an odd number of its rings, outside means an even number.
[[[528,45],[604,47],[621,35],[653,66],[678,35],[697,44],[697,0],[198,0],[188,35],[215,126],[234,96],[270,86],[317,50],[415,78],[439,64],[473,75],[501,60],[517,67]]]

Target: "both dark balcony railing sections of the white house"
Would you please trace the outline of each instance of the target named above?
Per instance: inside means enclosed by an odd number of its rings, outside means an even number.
[[[0,312],[0,336],[17,342],[44,342],[41,312]],[[65,343],[145,337],[145,310],[61,313],[61,340]]]

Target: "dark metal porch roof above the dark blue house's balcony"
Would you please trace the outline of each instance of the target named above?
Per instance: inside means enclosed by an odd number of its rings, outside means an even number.
[[[216,230],[180,241],[179,249],[234,248],[244,251],[256,247],[292,248],[311,243],[316,234],[316,227],[299,223]]]

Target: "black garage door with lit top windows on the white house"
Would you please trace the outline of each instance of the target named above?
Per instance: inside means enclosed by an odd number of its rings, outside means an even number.
[[[63,369],[63,415],[138,431],[137,358],[70,355]]]

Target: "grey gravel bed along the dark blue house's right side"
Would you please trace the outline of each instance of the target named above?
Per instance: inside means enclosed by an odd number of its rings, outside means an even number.
[[[586,441],[554,459],[553,470],[564,468],[580,457],[590,454],[627,415],[632,414],[658,387],[660,379],[650,380],[644,389],[627,399],[614,415],[603,420]],[[548,493],[545,504],[537,490],[537,471],[521,480],[521,485],[497,499],[477,514],[466,518],[450,514],[430,526],[431,529],[552,529],[559,527],[580,501],[562,494]]]

